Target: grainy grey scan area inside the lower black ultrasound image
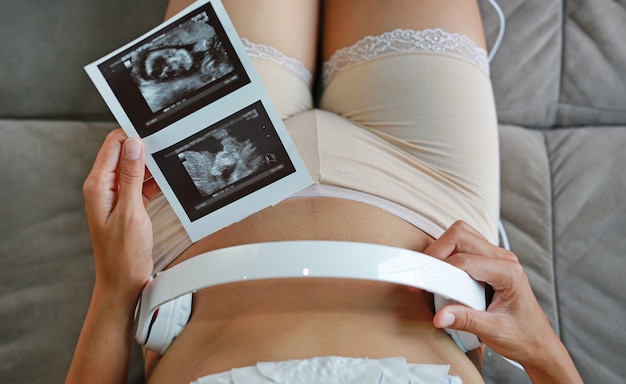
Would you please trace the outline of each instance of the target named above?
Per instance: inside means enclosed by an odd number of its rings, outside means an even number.
[[[236,138],[220,128],[193,150],[178,154],[200,195],[206,197],[258,172],[265,156],[249,139]]]

